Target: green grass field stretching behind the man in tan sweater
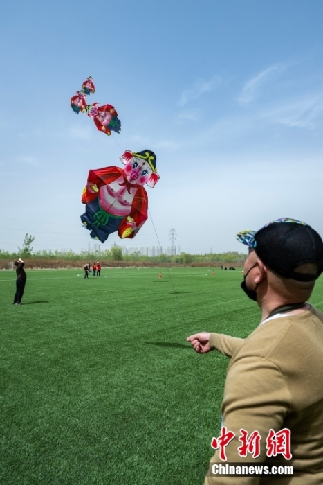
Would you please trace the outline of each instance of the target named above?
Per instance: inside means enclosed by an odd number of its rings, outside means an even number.
[[[228,358],[199,330],[246,337],[241,270],[0,272],[1,485],[196,485],[217,436]],[[323,309],[323,279],[311,303]]]

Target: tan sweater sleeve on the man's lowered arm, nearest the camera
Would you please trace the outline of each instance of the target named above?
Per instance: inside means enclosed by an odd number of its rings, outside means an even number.
[[[290,400],[284,376],[273,362],[257,356],[236,357],[228,370],[222,404],[223,426],[235,435],[225,447],[226,463],[264,463],[268,433],[270,429],[277,432],[282,428],[286,412],[290,409]],[[259,432],[259,457],[254,458],[252,452],[248,452],[246,457],[239,456],[241,429],[246,430],[248,436],[254,431]],[[210,461],[205,485],[237,483],[237,477],[210,476],[212,464],[225,464],[219,457],[219,449]],[[239,485],[257,484],[259,477],[239,477]]]

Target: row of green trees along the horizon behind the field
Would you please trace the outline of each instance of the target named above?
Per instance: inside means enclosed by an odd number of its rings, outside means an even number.
[[[82,252],[77,254],[73,251],[70,252],[59,252],[59,251],[37,251],[33,252],[32,244],[35,238],[26,233],[24,238],[24,243],[22,247],[18,247],[17,253],[10,253],[1,251],[0,249],[0,259],[10,259],[14,260],[17,258],[41,258],[41,259],[67,259],[67,260],[89,260],[97,261],[136,261],[144,263],[145,261],[150,261],[151,263],[179,263],[179,264],[190,264],[190,263],[243,263],[246,259],[245,253],[239,253],[237,251],[228,251],[225,253],[212,253],[212,254],[189,254],[182,252],[181,254],[176,254],[174,256],[167,256],[167,254],[160,254],[160,256],[141,256],[140,252],[136,252],[130,255],[122,254],[122,248],[119,246],[112,246],[111,249],[98,253],[87,253]]]

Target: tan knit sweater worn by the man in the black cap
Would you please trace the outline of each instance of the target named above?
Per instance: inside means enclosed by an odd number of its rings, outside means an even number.
[[[205,485],[323,484],[323,313],[311,307],[299,315],[265,321],[248,338],[212,333],[210,345],[231,358],[222,403],[223,426],[236,437],[225,448],[228,463],[281,462],[292,476],[205,477]],[[266,457],[266,437],[291,431],[291,453]],[[261,455],[239,457],[240,429],[261,434]],[[215,436],[217,437],[217,436]],[[223,464],[219,450],[213,463]]]

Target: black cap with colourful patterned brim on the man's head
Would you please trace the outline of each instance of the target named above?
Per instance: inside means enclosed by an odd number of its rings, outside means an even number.
[[[305,222],[281,218],[259,231],[241,231],[236,237],[255,249],[261,261],[284,278],[315,281],[323,272],[322,238]],[[297,267],[306,263],[317,265],[317,271],[297,272]]]

